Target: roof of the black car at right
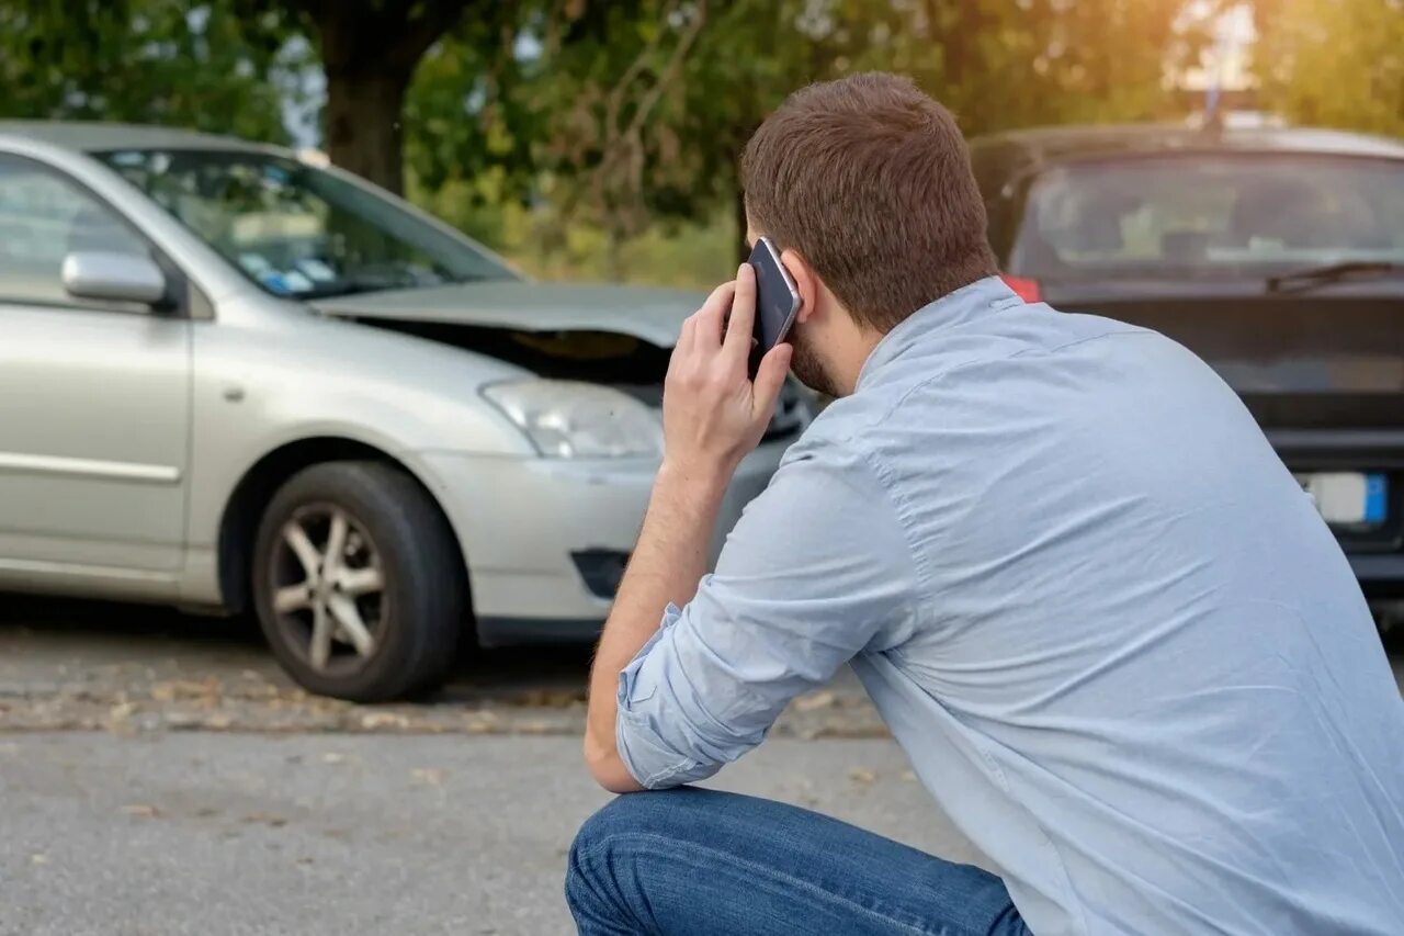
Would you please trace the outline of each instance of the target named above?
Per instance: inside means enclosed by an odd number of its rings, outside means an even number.
[[[1300,153],[1404,159],[1404,141],[1345,131],[1255,126],[1198,128],[1184,124],[1106,124],[1040,126],[991,134],[972,146],[1022,150],[1032,163],[1181,150],[1224,153]]]

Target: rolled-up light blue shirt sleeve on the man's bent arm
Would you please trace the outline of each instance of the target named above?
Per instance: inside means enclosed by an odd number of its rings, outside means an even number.
[[[913,614],[917,569],[879,476],[841,448],[786,458],[713,575],[619,673],[615,741],[647,788],[758,745],[797,694]]]

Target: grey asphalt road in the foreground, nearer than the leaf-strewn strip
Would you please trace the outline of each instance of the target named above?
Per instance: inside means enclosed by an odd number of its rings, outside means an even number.
[[[886,739],[776,739],[719,780],[973,859]],[[566,736],[13,735],[0,932],[566,933],[605,800]]]

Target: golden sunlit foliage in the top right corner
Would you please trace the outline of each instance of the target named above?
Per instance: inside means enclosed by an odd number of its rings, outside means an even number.
[[[1404,135],[1401,0],[1261,0],[1264,104],[1297,124]]]

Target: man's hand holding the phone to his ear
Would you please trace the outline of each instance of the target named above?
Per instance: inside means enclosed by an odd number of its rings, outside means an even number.
[[[730,319],[727,319],[730,311]],[[755,271],[743,263],[682,325],[663,391],[663,471],[726,483],[775,413],[790,346],[776,344],[753,384]],[[723,334],[724,330],[724,334]]]

